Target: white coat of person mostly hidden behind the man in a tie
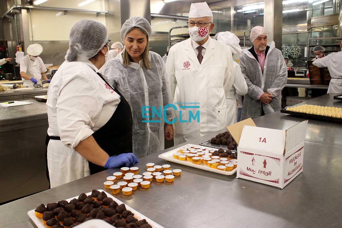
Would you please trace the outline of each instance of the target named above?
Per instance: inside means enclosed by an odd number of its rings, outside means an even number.
[[[227,100],[227,107],[228,107],[228,125],[230,126],[236,123],[237,119],[237,94],[244,96],[248,92],[248,86],[244,76],[242,75],[240,65],[233,61],[234,67],[234,83],[229,91],[226,100]]]

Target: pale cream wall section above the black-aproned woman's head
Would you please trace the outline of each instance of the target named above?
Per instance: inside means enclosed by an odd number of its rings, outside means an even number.
[[[103,10],[104,0],[94,0],[83,6],[78,6],[85,0],[49,0],[40,6],[60,7],[71,9]],[[32,19],[32,25],[31,25]],[[55,10],[31,10],[29,18],[30,40],[32,41],[31,26],[33,29],[33,40],[69,40],[69,32],[73,25],[81,19],[93,19],[106,25],[105,14]]]

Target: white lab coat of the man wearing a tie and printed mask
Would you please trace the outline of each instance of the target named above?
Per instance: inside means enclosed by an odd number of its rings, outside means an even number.
[[[226,96],[234,81],[233,56],[230,48],[209,37],[209,43],[199,64],[191,39],[173,45],[166,61],[166,72],[174,102],[190,102],[200,108],[180,108],[176,105],[174,145],[213,134],[225,128],[227,121]],[[182,104],[180,104],[182,106]],[[189,104],[184,104],[189,105]],[[200,112],[200,122],[189,122],[189,110]],[[182,120],[180,122],[180,113]]]

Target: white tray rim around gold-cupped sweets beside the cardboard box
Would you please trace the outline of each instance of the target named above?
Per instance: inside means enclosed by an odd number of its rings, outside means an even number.
[[[199,145],[195,145],[195,144],[186,144],[184,146],[181,146],[179,148],[176,148],[174,150],[171,150],[171,151],[168,151],[168,152],[165,152],[165,153],[162,153],[158,156],[158,158],[162,158],[164,160],[167,160],[167,161],[172,161],[174,163],[178,163],[178,164],[182,164],[182,165],[186,165],[186,166],[191,166],[191,167],[195,167],[197,169],[200,169],[200,170],[207,170],[207,171],[210,171],[210,172],[213,172],[213,173],[219,173],[219,174],[223,174],[223,175],[232,175],[234,173],[236,173],[236,170],[237,168],[233,169],[232,171],[222,171],[222,170],[216,170],[216,169],[213,169],[213,168],[210,168],[208,167],[208,165],[205,165],[203,163],[199,164],[199,165],[196,165],[192,162],[189,162],[189,161],[181,161],[179,159],[175,159],[173,158],[173,154],[174,153],[177,153],[177,152],[180,152],[180,148],[183,148],[185,146],[199,146]],[[212,147],[206,147],[206,146],[201,146],[201,147],[204,147],[204,148],[208,148],[210,150],[212,150],[213,148]]]

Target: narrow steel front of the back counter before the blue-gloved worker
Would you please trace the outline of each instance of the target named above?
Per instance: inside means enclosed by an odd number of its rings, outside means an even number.
[[[5,85],[5,84],[4,84]],[[33,96],[46,95],[48,88],[34,88],[32,90],[8,90],[0,91],[0,103],[11,100],[27,100],[32,99]]]

